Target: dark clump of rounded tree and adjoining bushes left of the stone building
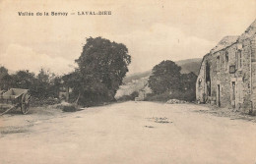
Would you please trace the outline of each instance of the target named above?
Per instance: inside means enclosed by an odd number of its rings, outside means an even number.
[[[146,100],[167,101],[180,99],[194,101],[196,97],[196,80],[194,73],[180,74],[181,68],[172,61],[162,61],[153,69],[149,86],[153,90]]]

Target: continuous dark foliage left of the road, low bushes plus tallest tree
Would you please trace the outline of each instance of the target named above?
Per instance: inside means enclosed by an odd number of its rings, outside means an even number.
[[[111,42],[101,37],[90,37],[87,38],[83,52],[76,62],[79,68],[63,77],[57,77],[44,69],[41,69],[38,75],[28,70],[9,75],[6,68],[0,67],[0,89],[30,89],[36,101],[34,104],[55,102],[54,98],[58,97],[62,86],[73,89],[71,101],[79,101],[87,106],[113,101],[119,85],[128,72],[131,56],[122,43]]]

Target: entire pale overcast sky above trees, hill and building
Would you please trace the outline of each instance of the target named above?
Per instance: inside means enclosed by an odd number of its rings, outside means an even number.
[[[78,16],[82,11],[111,15]],[[255,16],[256,0],[1,0],[0,65],[12,71],[47,68],[67,73],[86,37],[102,36],[127,46],[132,56],[129,74],[143,72],[162,60],[202,58],[225,35],[241,34]]]

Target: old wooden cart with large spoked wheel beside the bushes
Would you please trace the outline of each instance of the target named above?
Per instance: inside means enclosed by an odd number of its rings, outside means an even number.
[[[1,115],[4,115],[12,109],[21,108],[23,114],[29,112],[31,94],[29,89],[11,88],[8,91],[0,90],[0,109],[4,109]]]

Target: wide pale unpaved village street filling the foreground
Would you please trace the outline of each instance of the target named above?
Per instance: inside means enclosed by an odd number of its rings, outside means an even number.
[[[0,164],[256,163],[256,124],[197,112],[209,110],[200,105],[36,110],[0,117]]]

